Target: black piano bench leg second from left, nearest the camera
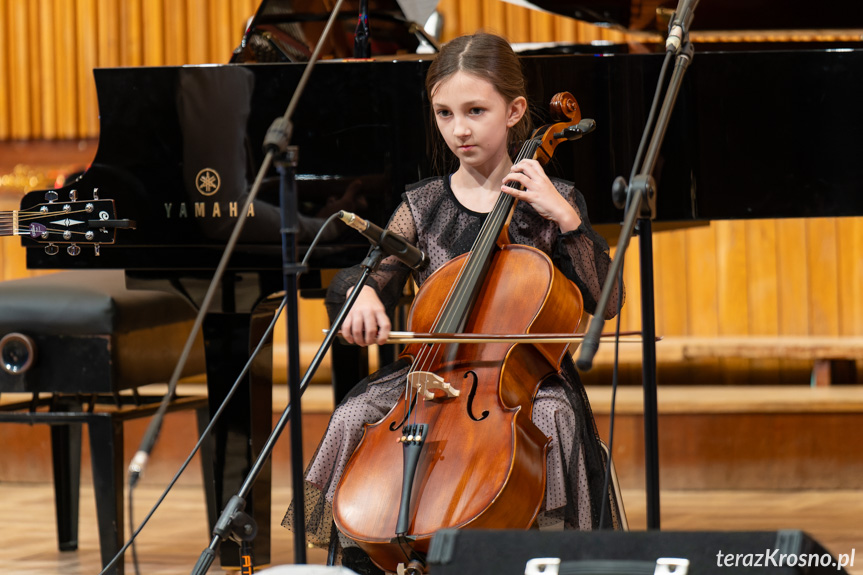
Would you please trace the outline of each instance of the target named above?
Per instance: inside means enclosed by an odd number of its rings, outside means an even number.
[[[88,423],[99,547],[104,567],[124,543],[123,422],[109,414],[94,414]],[[108,574],[123,575],[122,558]]]

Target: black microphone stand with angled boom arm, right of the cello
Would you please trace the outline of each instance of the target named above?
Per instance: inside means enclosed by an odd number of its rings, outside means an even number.
[[[620,231],[620,238],[617,243],[618,250],[614,254],[614,259],[611,263],[608,275],[606,276],[605,284],[603,285],[602,294],[597,306],[599,314],[594,316],[590,322],[590,327],[588,328],[584,342],[581,345],[579,358],[576,361],[578,368],[583,371],[589,370],[593,365],[593,358],[599,347],[599,335],[602,332],[602,328],[605,323],[602,318],[602,313],[608,306],[608,300],[610,299],[611,292],[614,289],[616,278],[620,273],[626,249],[629,246],[629,240],[635,231],[637,220],[639,262],[641,266],[641,331],[643,337],[641,374],[644,387],[644,471],[645,487],[647,492],[648,529],[659,529],[659,432],[656,401],[656,319],[654,316],[653,238],[651,228],[651,220],[656,216],[657,187],[652,174],[656,167],[656,160],[659,155],[659,149],[662,146],[662,141],[665,137],[665,131],[668,128],[671,112],[674,109],[674,104],[683,82],[683,76],[689,63],[692,61],[693,52],[694,50],[692,45],[690,44],[688,37],[686,37],[677,55],[674,72],[665,91],[665,98],[662,103],[659,119],[653,126],[650,145],[644,158],[644,162],[641,164],[638,174],[630,178],[631,181],[628,185],[626,180],[622,176],[619,176],[615,179],[612,186],[614,202],[618,207],[623,207],[623,204],[625,204],[626,214],[624,217],[623,227]],[[666,54],[666,59],[668,59],[671,54],[672,52],[669,51]],[[664,69],[665,67],[663,66],[663,70]],[[663,75],[660,75],[659,82],[662,82],[663,80]],[[651,129],[651,120],[652,113],[648,119],[647,126],[645,126],[645,136]],[[644,140],[642,140],[642,142],[643,141]],[[639,156],[640,153],[641,150],[639,149]],[[635,163],[638,163],[638,158],[636,158]]]

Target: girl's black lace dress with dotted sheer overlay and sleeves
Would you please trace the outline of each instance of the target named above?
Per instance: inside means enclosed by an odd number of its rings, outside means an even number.
[[[519,202],[510,224],[513,243],[538,248],[582,292],[585,309],[594,313],[610,263],[608,245],[591,227],[584,198],[572,184],[553,180],[558,191],[578,211],[582,225],[561,233],[557,224]],[[430,265],[414,273],[418,285],[436,269],[471,249],[486,214],[462,206],[449,178],[431,178],[409,187],[387,227],[425,251]],[[327,293],[327,310],[334,317],[346,291],[355,285],[359,266],[342,270]],[[398,302],[411,270],[394,257],[383,260],[371,285],[388,310]],[[619,294],[611,298],[605,317],[613,317]],[[328,546],[333,532],[332,502],[342,471],[359,444],[363,424],[382,419],[404,392],[410,363],[398,360],[361,381],[333,413],[326,434],[306,470],[305,517],[308,542]],[[547,491],[537,523],[540,529],[597,529],[603,499],[605,456],[593,414],[569,354],[556,378],[540,387],[533,405],[533,422],[552,438],[547,459]],[[618,510],[611,488],[606,493],[605,525],[617,527]],[[292,510],[282,525],[291,528]],[[341,536],[341,545],[351,542]]]

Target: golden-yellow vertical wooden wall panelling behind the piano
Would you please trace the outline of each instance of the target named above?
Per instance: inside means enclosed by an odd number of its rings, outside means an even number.
[[[97,136],[93,67],[226,62],[257,5],[258,0],[0,0],[0,140]],[[500,0],[441,0],[438,8],[444,40],[481,28],[514,42],[626,40],[616,30]],[[863,218],[713,222],[657,233],[658,333],[861,335],[861,238]],[[26,273],[17,240],[6,240],[0,273]],[[624,267],[626,330],[641,325],[638,266],[636,239]],[[309,321],[325,323],[322,311],[312,316]]]

